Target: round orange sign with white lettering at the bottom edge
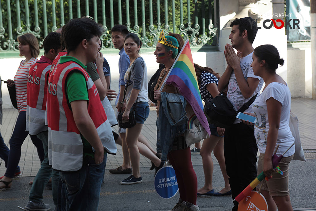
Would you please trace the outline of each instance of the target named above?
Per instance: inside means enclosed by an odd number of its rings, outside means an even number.
[[[238,211],[268,211],[264,196],[252,190],[238,205]]]

